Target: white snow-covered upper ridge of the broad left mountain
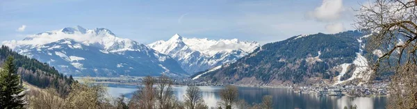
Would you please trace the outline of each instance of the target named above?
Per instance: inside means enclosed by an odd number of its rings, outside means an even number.
[[[29,35],[22,41],[3,41],[3,44],[10,46],[10,48],[13,49],[21,47],[34,48],[43,46],[47,43],[59,41],[61,39],[73,39],[76,42],[83,43],[87,46],[93,45],[108,52],[137,50],[139,49],[138,46],[140,46],[140,43],[132,41],[131,39],[116,37],[111,30],[106,28],[95,28],[90,30],[81,26],[33,34]]]

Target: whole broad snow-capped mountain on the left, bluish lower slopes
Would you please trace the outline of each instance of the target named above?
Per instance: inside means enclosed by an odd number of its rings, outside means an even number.
[[[63,28],[34,34],[22,41],[3,41],[3,45],[69,75],[188,75],[166,54],[131,39],[116,37],[106,28]]]

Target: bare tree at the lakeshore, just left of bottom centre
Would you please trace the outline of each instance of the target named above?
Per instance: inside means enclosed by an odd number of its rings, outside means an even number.
[[[196,86],[188,86],[185,95],[185,105],[188,109],[207,108],[202,99],[202,92]]]

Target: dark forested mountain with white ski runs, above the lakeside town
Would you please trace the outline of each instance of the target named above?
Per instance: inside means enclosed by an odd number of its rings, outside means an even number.
[[[368,81],[368,32],[308,34],[267,43],[235,63],[197,72],[190,79],[239,85],[339,84]],[[362,75],[361,72],[366,72]]]

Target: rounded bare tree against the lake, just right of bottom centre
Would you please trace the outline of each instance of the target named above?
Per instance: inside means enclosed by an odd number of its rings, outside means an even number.
[[[238,87],[225,86],[224,89],[220,90],[220,103],[224,108],[231,109],[231,106],[238,100],[238,95]]]

